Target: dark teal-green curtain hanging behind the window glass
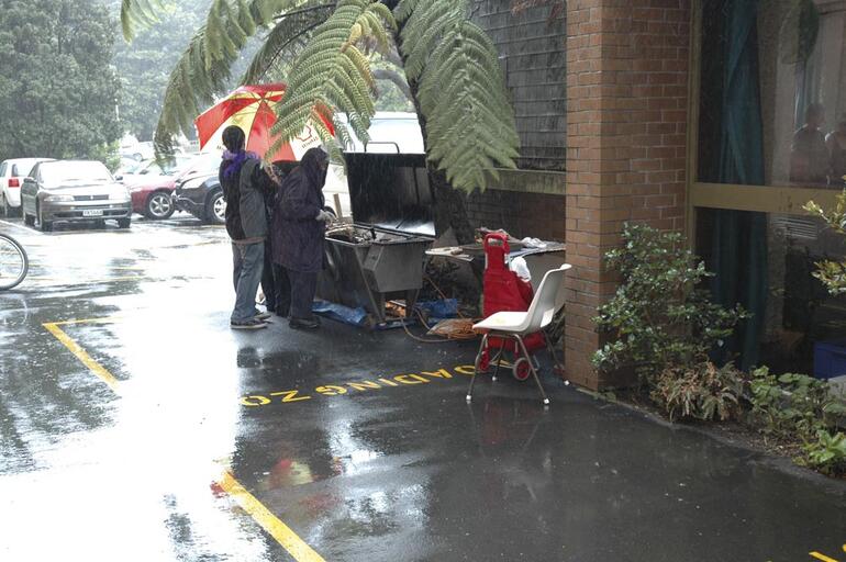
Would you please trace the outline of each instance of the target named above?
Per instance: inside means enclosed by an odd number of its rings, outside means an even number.
[[[757,0],[714,0],[706,9],[720,18],[720,57],[714,68],[722,76],[719,145],[711,176],[719,183],[764,183],[764,140],[758,90]],[[702,108],[708,111],[708,108]],[[744,211],[716,211],[714,217],[714,299],[725,305],[741,303],[752,313],[721,350],[721,359],[738,355],[738,367],[758,361],[767,307],[767,215]]]

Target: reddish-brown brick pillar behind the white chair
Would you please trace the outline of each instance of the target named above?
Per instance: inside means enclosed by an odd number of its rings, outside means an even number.
[[[590,363],[616,289],[604,254],[626,221],[684,228],[689,43],[690,0],[567,2],[565,357],[590,389],[621,382]]]

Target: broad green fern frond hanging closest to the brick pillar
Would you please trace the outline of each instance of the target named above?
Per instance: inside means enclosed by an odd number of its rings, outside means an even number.
[[[402,0],[400,49],[426,121],[428,159],[455,188],[485,189],[515,168],[520,138],[497,48],[468,0]]]

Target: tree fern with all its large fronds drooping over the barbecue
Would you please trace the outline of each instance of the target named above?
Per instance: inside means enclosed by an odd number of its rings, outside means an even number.
[[[163,1],[123,0],[124,36],[152,25]],[[433,168],[472,191],[497,168],[515,167],[520,142],[503,72],[493,43],[471,21],[469,0],[214,0],[170,75],[156,131],[160,151],[225,93],[230,69],[255,35],[264,44],[242,82],[287,82],[277,105],[280,143],[311,125],[339,154],[344,128],[333,138],[321,119],[338,113],[366,140],[377,95],[370,50],[398,49]]]

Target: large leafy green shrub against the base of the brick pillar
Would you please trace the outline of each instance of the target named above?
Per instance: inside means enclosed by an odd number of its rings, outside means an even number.
[[[708,361],[744,312],[711,301],[701,285],[712,273],[684,248],[681,235],[626,224],[623,241],[606,255],[621,284],[594,318],[611,338],[594,353],[594,367],[631,368],[652,383],[667,369]]]

